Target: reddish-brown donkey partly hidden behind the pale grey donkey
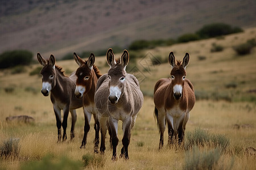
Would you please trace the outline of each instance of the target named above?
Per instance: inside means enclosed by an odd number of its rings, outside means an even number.
[[[90,129],[90,118],[94,117],[94,152],[98,153],[98,143],[99,143],[99,132],[100,132],[100,122],[98,121],[98,115],[96,114],[96,108],[94,103],[94,94],[96,90],[96,84],[98,78],[100,78],[100,70],[94,65],[95,57],[94,54],[90,54],[88,60],[83,61],[76,53],[74,53],[74,59],[79,65],[76,70],[76,90],[75,95],[77,98],[82,99],[82,104],[84,105],[84,138],[82,139],[82,145],[80,148],[85,147],[86,138],[88,131]]]

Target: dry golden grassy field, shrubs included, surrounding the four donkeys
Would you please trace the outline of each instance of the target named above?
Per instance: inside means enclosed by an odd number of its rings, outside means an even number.
[[[245,150],[256,147],[256,95],[253,92],[256,87],[256,50],[254,48],[251,54],[245,56],[237,56],[233,50],[233,46],[253,38],[256,38],[256,28],[218,39],[140,52],[143,55],[137,58],[137,64],[131,68],[131,72],[134,68],[137,69],[134,73],[139,77],[144,103],[132,130],[130,159],[127,161],[118,159],[112,162],[109,147],[105,155],[93,153],[93,121],[86,148],[79,148],[84,126],[82,109],[77,110],[75,139],[71,142],[68,135],[66,142],[57,143],[51,101],[40,93],[40,76],[29,75],[36,67],[40,67],[39,64],[25,67],[26,72],[20,74],[12,74],[12,69],[1,70],[0,149],[2,150],[6,141],[13,139],[14,143],[18,143],[18,151],[16,156],[1,155],[0,169],[193,169],[196,165],[196,169],[255,169],[255,152],[250,155]],[[213,43],[222,45],[224,50],[210,53]],[[164,148],[159,151],[152,91],[156,80],[170,75],[171,67],[164,62],[146,67],[144,61],[152,58],[160,61],[160,58],[166,58],[171,51],[174,51],[177,59],[182,59],[185,52],[190,54],[187,78],[194,84],[197,101],[186,127],[185,147],[167,146],[166,130]],[[202,56],[204,59],[200,59]],[[108,70],[105,63],[105,57],[96,57],[96,65],[102,73]],[[77,68],[72,60],[57,61],[57,64],[63,66],[67,74]],[[5,120],[8,116],[18,115],[32,116],[35,122],[7,123]],[[121,122],[118,125],[119,154]],[[68,131],[70,128],[71,117],[68,119]],[[186,147],[191,142],[188,137],[198,137],[203,142],[201,145],[194,143],[193,148],[189,148]],[[109,146],[109,135],[106,146]]]

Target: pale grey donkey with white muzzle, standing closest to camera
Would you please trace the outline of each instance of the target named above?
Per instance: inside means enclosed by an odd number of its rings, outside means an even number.
[[[118,120],[123,122],[123,139],[120,158],[129,159],[128,146],[131,138],[131,129],[135,124],[137,113],[142,107],[143,94],[139,82],[125,69],[129,62],[129,53],[123,51],[121,59],[115,60],[113,50],[110,48],[106,54],[110,66],[108,74],[98,80],[94,100],[101,124],[101,152],[105,150],[105,134],[109,126],[110,140],[113,147],[112,160],[117,159]]]

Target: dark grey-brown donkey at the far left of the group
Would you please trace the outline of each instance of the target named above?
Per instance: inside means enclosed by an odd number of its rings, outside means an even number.
[[[71,140],[75,137],[74,128],[76,124],[76,110],[82,107],[82,100],[75,97],[76,76],[65,76],[62,68],[55,65],[55,57],[51,55],[49,60],[45,60],[40,53],[37,55],[39,63],[43,66],[40,74],[42,75],[42,94],[48,96],[51,91],[51,101],[53,111],[56,116],[56,124],[58,129],[58,142],[61,141],[61,125],[63,127],[63,141],[67,139],[66,129],[68,112],[71,112]],[[63,122],[61,123],[61,110],[63,110]]]

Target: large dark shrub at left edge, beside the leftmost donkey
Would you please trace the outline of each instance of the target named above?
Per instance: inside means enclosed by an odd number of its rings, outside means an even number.
[[[33,54],[28,50],[6,51],[0,54],[0,69],[18,65],[29,65],[32,59]]]

